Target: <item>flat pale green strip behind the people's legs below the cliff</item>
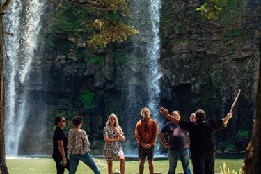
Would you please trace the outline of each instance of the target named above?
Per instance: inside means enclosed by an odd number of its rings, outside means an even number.
[[[101,173],[107,173],[107,165],[104,159],[95,158],[96,164],[99,166]],[[216,159],[215,171],[220,173],[220,166],[223,167],[223,162],[226,166],[237,171],[238,168],[242,168],[243,157],[228,159],[228,157],[219,157]],[[55,163],[52,158],[24,158],[24,159],[6,159],[6,164],[8,166],[8,172],[10,174],[47,174],[56,173]],[[127,173],[139,173],[139,161],[138,160],[126,160],[126,174]],[[168,173],[168,160],[155,160],[154,161],[155,172]],[[113,171],[120,171],[120,164],[118,161],[113,161]],[[191,165],[192,170],[192,165]],[[182,172],[182,165],[178,161],[176,173]],[[88,166],[81,163],[77,168],[77,174],[83,173],[93,173]],[[148,172],[148,162],[145,163],[144,173]],[[65,171],[68,174],[68,171]]]

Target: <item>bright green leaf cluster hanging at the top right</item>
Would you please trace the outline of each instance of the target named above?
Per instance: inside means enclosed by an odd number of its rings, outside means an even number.
[[[210,0],[209,3],[204,3],[196,11],[201,11],[201,15],[207,19],[218,19],[218,15],[222,10],[221,4],[227,3],[228,0]]]

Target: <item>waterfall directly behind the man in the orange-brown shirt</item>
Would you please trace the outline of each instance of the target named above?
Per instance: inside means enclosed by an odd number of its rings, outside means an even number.
[[[128,156],[136,154],[136,139],[134,130],[136,122],[142,119],[140,111],[147,106],[151,111],[151,118],[156,120],[159,129],[162,127],[159,113],[160,102],[160,78],[161,67],[160,58],[160,0],[134,0],[128,1],[129,8],[132,10],[129,24],[135,26],[139,31],[138,35],[132,40],[131,51],[127,53],[129,59],[128,73],[124,77],[128,78],[122,97],[125,99],[125,116],[128,118],[123,122],[127,130],[127,141],[123,143],[125,153]],[[127,96],[127,97],[125,97]],[[122,124],[122,123],[121,123]],[[156,142],[155,154],[158,154],[159,141]]]

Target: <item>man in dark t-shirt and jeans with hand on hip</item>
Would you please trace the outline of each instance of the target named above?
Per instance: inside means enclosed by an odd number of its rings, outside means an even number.
[[[180,120],[180,111],[173,111],[171,116]],[[164,134],[168,134],[168,143]],[[187,148],[187,131],[180,129],[179,125],[167,122],[159,133],[159,139],[165,148],[168,148],[168,174],[175,174],[177,160],[180,158],[184,174],[191,174],[189,167],[189,148]]]

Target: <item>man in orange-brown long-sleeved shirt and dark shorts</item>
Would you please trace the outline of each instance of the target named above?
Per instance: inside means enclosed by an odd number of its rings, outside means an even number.
[[[155,120],[150,118],[150,109],[148,107],[141,109],[141,116],[143,116],[143,119],[137,122],[135,129],[135,137],[139,147],[139,173],[143,173],[145,159],[147,158],[150,174],[153,174],[154,147],[158,134],[158,125]]]

